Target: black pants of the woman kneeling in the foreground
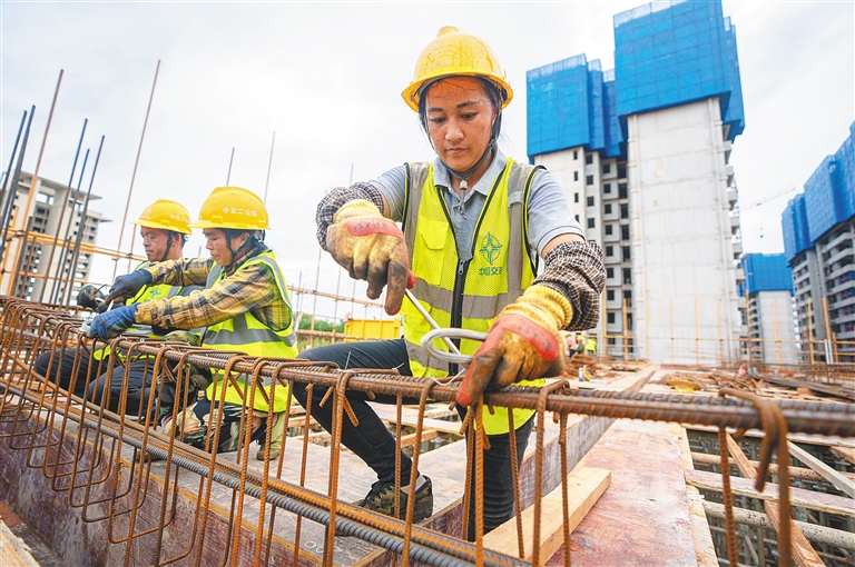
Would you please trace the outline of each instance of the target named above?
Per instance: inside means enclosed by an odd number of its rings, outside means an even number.
[[[341,368],[396,368],[403,376],[412,376],[406,346],[403,339],[377,342],[340,342],[306,350],[298,358],[312,361],[335,362]],[[324,429],[332,431],[332,404],[318,407],[326,389],[314,388],[312,395],[312,417]],[[306,385],[294,384],[294,397],[306,406]],[[354,427],[350,419],[343,420],[342,444],[356,454],[377,474],[383,483],[395,481],[395,437],[385,424],[366,404],[367,395],[363,391],[348,391],[351,404],[360,425]],[[376,395],[373,401],[396,404],[395,396]],[[417,404],[414,398],[404,398],[404,404]],[[459,408],[460,411],[460,408]],[[465,409],[461,411],[465,415]],[[522,456],[529,442],[529,434],[534,424],[529,419],[517,428],[517,462],[522,464]],[[401,452],[401,484],[410,483],[412,460]],[[468,479],[470,485],[474,483]],[[474,494],[474,493],[472,493]],[[474,498],[469,510],[469,539],[474,539]],[[484,451],[484,531],[497,528],[513,517],[513,480],[511,474],[511,441],[508,434],[490,436],[490,450]]]

